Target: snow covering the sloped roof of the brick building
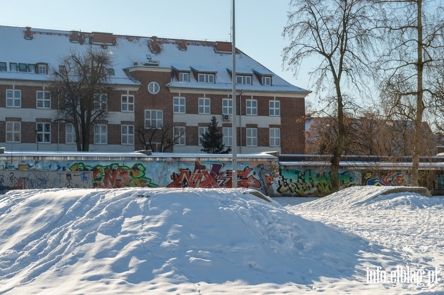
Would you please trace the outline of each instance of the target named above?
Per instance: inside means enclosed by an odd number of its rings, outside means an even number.
[[[71,42],[72,33],[69,31],[31,28],[32,39],[30,40],[25,38],[25,32],[26,28],[0,26],[0,62],[5,62],[7,67],[6,71],[0,71],[0,79],[45,81],[49,75],[11,71],[9,63],[47,63],[50,66],[58,66],[59,58],[70,54],[72,51],[81,52],[88,46],[87,44],[81,45],[80,43]],[[167,84],[168,87],[231,89],[231,76],[227,71],[227,68],[231,68],[231,54],[218,53],[216,51],[216,42],[185,40],[186,50],[181,50],[180,40],[157,38],[157,53],[152,53],[150,50],[150,37],[113,35],[113,40],[115,46],[107,47],[114,59],[113,68],[115,76],[112,77],[112,83],[140,85],[137,81],[130,79],[124,69],[133,66],[133,62],[136,61],[144,66],[144,64],[152,60],[158,61],[160,63],[159,67],[162,68],[172,69],[176,67],[179,70],[196,69],[198,71],[217,72],[215,83],[199,83],[194,75],[191,74],[189,82],[179,82],[173,77],[171,82]],[[262,86],[257,76],[253,75],[253,84],[237,85],[236,89],[238,90],[308,92],[273,74],[266,67],[240,50],[236,51],[237,67],[242,69],[242,72],[251,72],[253,74],[256,71],[257,73],[273,75],[271,86]]]

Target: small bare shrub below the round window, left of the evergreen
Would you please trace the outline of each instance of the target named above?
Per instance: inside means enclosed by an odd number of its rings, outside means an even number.
[[[173,125],[139,126],[136,129],[140,143],[146,150],[165,152],[168,148],[185,140],[185,127]]]

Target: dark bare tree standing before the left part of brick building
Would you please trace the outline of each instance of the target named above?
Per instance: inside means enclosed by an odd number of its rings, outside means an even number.
[[[109,52],[93,46],[73,51],[50,67],[49,88],[62,100],[55,121],[72,124],[77,151],[89,151],[93,124],[108,117],[108,99],[114,90],[111,68]]]

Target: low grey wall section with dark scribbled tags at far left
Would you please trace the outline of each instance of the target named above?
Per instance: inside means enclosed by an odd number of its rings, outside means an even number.
[[[0,194],[10,190],[92,187],[91,172],[0,170]]]

